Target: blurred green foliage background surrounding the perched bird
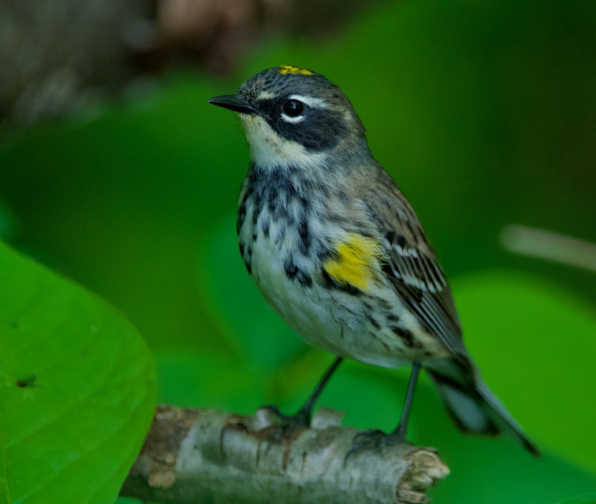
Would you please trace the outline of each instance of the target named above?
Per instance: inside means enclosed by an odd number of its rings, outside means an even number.
[[[470,353],[544,450],[464,437],[426,379],[411,441],[452,474],[436,502],[596,502],[596,275],[516,256],[511,224],[596,241],[596,4],[383,2],[338,35],[268,39],[235,75],[158,89],[5,138],[0,233],[103,296],[156,357],[160,402],[291,412],[333,359],[266,307],[235,240],[249,160],[207,105],[279,64],[324,73],[417,210],[451,279]],[[321,403],[390,429],[409,370],[348,363]]]

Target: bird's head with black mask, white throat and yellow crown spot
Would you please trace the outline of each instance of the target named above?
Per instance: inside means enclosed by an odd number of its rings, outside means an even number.
[[[263,70],[237,94],[209,103],[240,114],[251,155],[263,169],[324,163],[331,151],[368,151],[364,127],[342,90],[292,66]]]

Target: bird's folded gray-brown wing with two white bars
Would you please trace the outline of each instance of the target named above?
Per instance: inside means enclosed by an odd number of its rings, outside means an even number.
[[[383,270],[405,305],[462,363],[469,362],[451,288],[406,198],[383,172],[369,207],[386,247]],[[387,180],[389,179],[389,180]]]

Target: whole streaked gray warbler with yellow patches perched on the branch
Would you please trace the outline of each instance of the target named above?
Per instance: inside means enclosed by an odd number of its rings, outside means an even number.
[[[480,379],[443,270],[342,90],[311,70],[281,66],[209,102],[240,115],[250,147],[237,219],[250,276],[294,331],[337,356],[299,412],[280,416],[308,424],[344,358],[412,364],[401,422],[391,434],[376,431],[373,444],[403,440],[422,366],[462,431],[504,431],[538,456]]]

